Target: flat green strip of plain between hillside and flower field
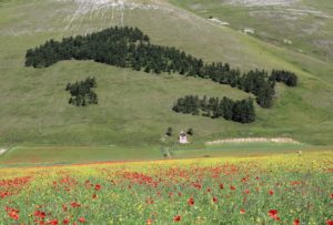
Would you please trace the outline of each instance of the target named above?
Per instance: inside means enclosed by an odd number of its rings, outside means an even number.
[[[224,143],[214,145],[189,144],[169,146],[39,146],[13,147],[0,157],[0,167],[50,166],[101,162],[133,162],[152,160],[175,160],[189,157],[251,157],[279,154],[303,154],[329,151],[319,147],[292,143]],[[170,153],[165,156],[165,152]]]

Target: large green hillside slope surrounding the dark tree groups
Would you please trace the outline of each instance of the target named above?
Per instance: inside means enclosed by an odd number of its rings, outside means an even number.
[[[300,76],[300,86],[279,85],[273,109],[256,108],[258,121],[242,125],[171,111],[174,100],[184,94],[248,96],[208,80],[145,74],[91,61],[64,61],[38,70],[23,67],[27,49],[46,40],[122,24],[139,27],[152,43],[173,45],[206,61],[230,62],[242,70],[292,70]],[[164,1],[0,1],[0,68],[2,146],[155,146],[169,126],[175,133],[193,127],[193,141],[199,143],[234,136],[292,136],[311,144],[333,144],[329,135],[333,133],[333,65]],[[97,78],[99,105],[69,105],[65,84],[88,75]]]

